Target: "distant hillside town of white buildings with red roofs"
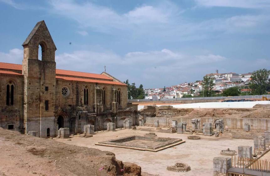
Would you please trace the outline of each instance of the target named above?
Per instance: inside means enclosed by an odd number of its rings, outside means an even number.
[[[214,88],[212,89],[216,95],[222,94],[223,90],[238,87],[241,88],[242,93],[249,93],[247,85],[251,80],[252,72],[238,74],[235,72],[206,74],[214,78]],[[202,80],[190,83],[180,83],[170,87],[164,88],[150,88],[144,89],[145,99],[174,99],[174,98],[190,98],[204,96]]]

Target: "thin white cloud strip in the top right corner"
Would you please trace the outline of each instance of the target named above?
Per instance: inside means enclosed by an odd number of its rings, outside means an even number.
[[[195,0],[206,7],[269,8],[269,0]]]

